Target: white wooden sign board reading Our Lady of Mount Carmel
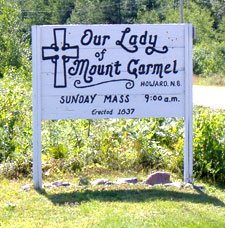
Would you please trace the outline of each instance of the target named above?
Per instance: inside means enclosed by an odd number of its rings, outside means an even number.
[[[33,26],[32,49],[34,150],[41,120],[189,119],[190,24]]]

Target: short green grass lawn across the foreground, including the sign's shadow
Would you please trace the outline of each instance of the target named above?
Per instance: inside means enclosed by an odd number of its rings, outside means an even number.
[[[107,178],[118,177],[124,174]],[[205,185],[204,192],[142,184],[24,192],[27,183],[32,180],[0,180],[0,227],[225,227],[225,192],[214,186]]]

